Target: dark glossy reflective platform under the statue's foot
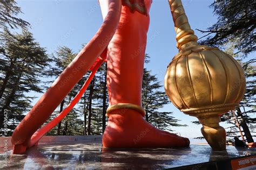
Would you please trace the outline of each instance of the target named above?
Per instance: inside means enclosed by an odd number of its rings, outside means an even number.
[[[53,139],[56,141],[44,139],[25,155],[8,154],[7,167],[4,166],[4,154],[1,154],[0,169],[232,169],[231,162],[233,167],[240,163],[256,169],[255,148],[227,146],[227,151],[211,151],[208,145],[191,145],[185,148],[110,149],[102,148],[100,136]],[[238,162],[241,158],[246,160]]]

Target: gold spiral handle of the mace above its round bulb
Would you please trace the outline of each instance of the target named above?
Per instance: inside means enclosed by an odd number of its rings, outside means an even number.
[[[175,31],[177,33],[176,46],[179,48],[179,51],[185,51],[190,47],[198,46],[198,38],[188,23],[181,0],[169,0],[169,5],[172,12]]]

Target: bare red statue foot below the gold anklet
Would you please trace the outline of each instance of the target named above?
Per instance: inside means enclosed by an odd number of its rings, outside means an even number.
[[[131,109],[113,111],[104,135],[104,147],[172,147],[189,146],[187,138],[159,130]]]

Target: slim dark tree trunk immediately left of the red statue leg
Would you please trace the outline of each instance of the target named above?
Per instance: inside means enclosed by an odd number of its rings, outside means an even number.
[[[105,63],[105,77],[104,77],[104,83],[103,83],[103,111],[102,111],[102,134],[105,131],[106,128],[106,97],[107,97],[107,92],[106,92],[106,84],[107,84],[107,65]]]

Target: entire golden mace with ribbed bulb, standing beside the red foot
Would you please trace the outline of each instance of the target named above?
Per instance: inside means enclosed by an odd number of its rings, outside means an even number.
[[[169,0],[179,53],[165,74],[165,92],[184,114],[203,124],[201,133],[213,150],[226,149],[220,116],[239,105],[245,75],[232,56],[218,48],[200,46],[191,30],[181,0]]]

